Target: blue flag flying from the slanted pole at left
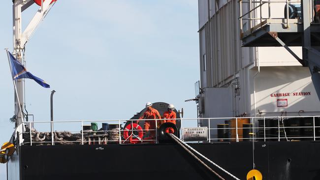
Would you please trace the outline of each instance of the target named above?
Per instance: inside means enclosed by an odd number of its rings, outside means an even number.
[[[8,52],[8,53],[9,53],[9,59],[10,59],[11,69],[12,69],[12,79],[29,78],[29,79],[33,79],[35,82],[37,82],[43,88],[50,88],[50,85],[48,85],[42,79],[40,79],[36,76],[33,76],[18,60],[16,60],[12,56],[12,54],[10,52]]]

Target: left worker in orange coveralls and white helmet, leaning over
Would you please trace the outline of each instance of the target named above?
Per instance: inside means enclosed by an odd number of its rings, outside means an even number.
[[[146,119],[144,122],[144,130],[146,132],[150,130],[150,137],[149,139],[155,140],[156,138],[156,120],[154,119],[161,119],[161,116],[159,114],[159,111],[152,107],[151,102],[147,102],[146,107],[148,108],[146,112],[143,113],[143,115],[139,118],[139,120]],[[145,138],[146,139],[146,138]]]

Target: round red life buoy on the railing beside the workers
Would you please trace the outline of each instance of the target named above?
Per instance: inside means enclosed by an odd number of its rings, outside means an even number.
[[[131,126],[132,125],[132,126]],[[135,136],[132,132],[132,129],[133,130],[136,130],[138,131],[138,136]],[[130,135],[129,135],[130,133]],[[124,128],[124,138],[125,138],[125,141],[124,143],[129,142],[131,144],[136,144],[136,143],[141,143],[141,140],[143,138],[143,130],[142,130],[142,127],[137,124],[137,123],[129,123],[125,128]]]

